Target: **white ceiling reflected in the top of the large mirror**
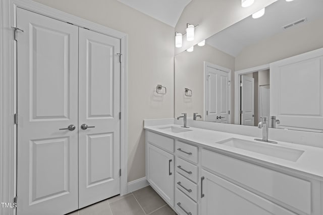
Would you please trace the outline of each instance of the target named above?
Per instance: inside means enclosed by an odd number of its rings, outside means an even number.
[[[322,11],[322,0],[295,0],[293,2],[280,0],[268,6],[263,17],[259,19],[247,17],[209,37],[206,43],[236,57],[245,47],[280,32],[288,31],[282,28],[287,24],[304,17],[307,18],[307,22],[323,18]]]

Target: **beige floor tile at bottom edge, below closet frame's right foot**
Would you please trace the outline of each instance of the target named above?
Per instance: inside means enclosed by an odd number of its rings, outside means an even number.
[[[114,201],[110,206],[113,215],[145,215],[133,195]]]

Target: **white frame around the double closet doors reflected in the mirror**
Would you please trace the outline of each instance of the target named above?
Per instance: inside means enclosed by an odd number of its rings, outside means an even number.
[[[223,67],[223,66],[220,66],[220,65],[217,65],[217,64],[213,64],[213,63],[210,63],[210,62],[207,62],[207,61],[203,61],[204,63],[204,67],[203,67],[203,119],[205,120],[205,117],[206,117],[206,112],[205,112],[205,107],[206,107],[206,79],[205,79],[205,76],[206,76],[206,67],[209,66],[209,67],[212,67],[212,68],[215,68],[215,69],[218,69],[218,70],[221,70],[221,71],[224,71],[225,73],[229,73],[229,111],[230,111],[230,114],[229,114],[229,119],[228,119],[228,123],[230,124],[231,123],[231,69],[229,68],[226,68],[226,67]]]

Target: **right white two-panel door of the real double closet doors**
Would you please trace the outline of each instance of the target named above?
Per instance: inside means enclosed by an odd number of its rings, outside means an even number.
[[[120,193],[120,40],[79,28],[79,207]],[[81,125],[89,127],[82,129]],[[90,127],[95,126],[95,127]]]

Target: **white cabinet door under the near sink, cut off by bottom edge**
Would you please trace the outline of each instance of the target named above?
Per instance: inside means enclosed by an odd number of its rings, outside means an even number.
[[[205,170],[202,170],[201,185],[203,215],[296,214]]]

